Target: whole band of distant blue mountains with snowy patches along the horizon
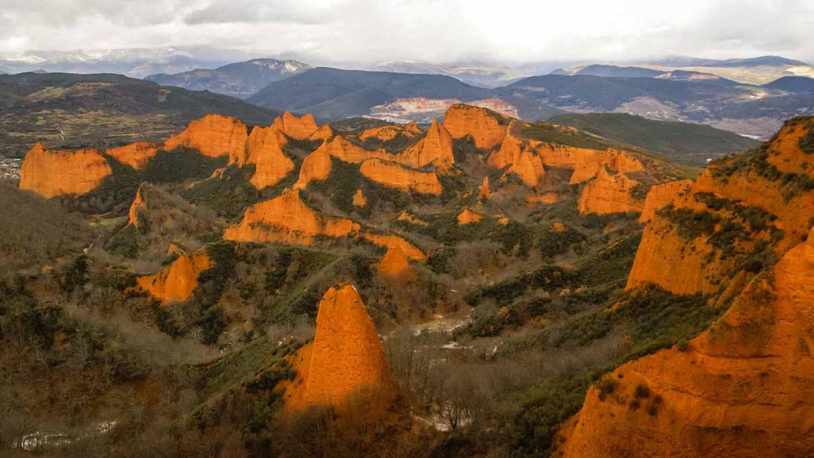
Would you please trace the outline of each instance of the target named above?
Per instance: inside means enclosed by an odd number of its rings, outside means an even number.
[[[298,59],[234,59],[248,54],[207,47],[32,52],[0,59],[0,68],[72,68],[76,73],[106,68],[267,109],[313,112],[326,121],[367,116],[428,122],[449,105],[466,102],[528,121],[566,112],[624,112],[768,138],[787,118],[814,112],[814,80],[806,77],[814,76],[814,67],[778,56],[673,57],[521,77],[513,68],[478,62],[400,61],[374,66],[388,71],[365,71],[311,68]]]

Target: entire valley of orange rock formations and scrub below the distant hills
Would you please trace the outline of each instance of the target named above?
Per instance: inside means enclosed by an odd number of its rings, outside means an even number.
[[[764,410],[764,391],[733,391],[759,371],[793,393],[807,380],[802,344],[772,349],[808,338],[812,118],[762,144],[552,121],[456,99],[429,126],[223,113],[124,145],[37,143],[19,187],[0,183],[2,403],[25,412],[2,444],[602,456],[591,438],[624,454],[611,438],[633,433],[698,456],[757,450],[746,427],[812,451],[804,423],[752,420],[805,416],[807,398]],[[708,144],[751,149],[703,171],[664,159],[698,164]],[[687,396],[754,407],[715,420]]]

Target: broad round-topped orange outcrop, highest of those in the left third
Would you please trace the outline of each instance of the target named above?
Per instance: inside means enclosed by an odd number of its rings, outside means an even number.
[[[243,161],[243,150],[248,138],[247,126],[236,117],[208,114],[190,122],[181,134],[164,142],[171,151],[179,146],[195,148],[204,156],[229,156],[230,163]]]

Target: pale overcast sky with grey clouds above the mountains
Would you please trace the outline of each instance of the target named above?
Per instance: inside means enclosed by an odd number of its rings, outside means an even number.
[[[0,0],[0,54],[212,45],[372,64],[783,55],[814,0]]]

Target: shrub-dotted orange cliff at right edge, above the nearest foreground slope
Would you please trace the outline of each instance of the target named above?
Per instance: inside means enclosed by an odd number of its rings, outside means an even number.
[[[811,126],[805,126],[805,122],[787,123],[769,145],[767,161],[782,162],[788,167],[793,165],[794,157],[804,153],[797,143],[788,141],[787,135],[799,135],[801,128],[811,129]],[[720,170],[726,170],[739,160],[736,156],[710,165],[688,190],[674,195],[669,204],[676,211],[716,216],[720,218],[718,228],[725,222],[746,222],[727,209],[710,207],[704,196],[733,202],[739,209],[751,208],[757,214],[766,214],[766,229],[752,233],[746,244],[734,244],[732,248],[748,253],[759,239],[768,240],[772,251],[780,258],[807,236],[809,218],[814,214],[814,193],[797,192],[789,196],[779,179],[767,178],[747,166],[733,167],[728,176],[719,176]],[[803,161],[797,164],[802,167]],[[792,170],[797,170],[797,174],[807,173],[803,168]],[[736,257],[721,258],[720,250],[713,247],[706,236],[686,240],[680,235],[680,229],[658,213],[651,216],[628,275],[628,289],[654,283],[673,293],[691,294],[713,293],[727,285],[727,279],[737,273],[733,271]]]

